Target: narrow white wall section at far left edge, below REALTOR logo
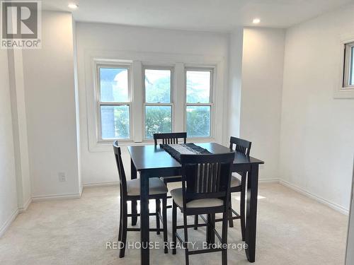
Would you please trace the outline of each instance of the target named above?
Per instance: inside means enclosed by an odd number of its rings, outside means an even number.
[[[7,51],[0,49],[0,237],[18,212]]]

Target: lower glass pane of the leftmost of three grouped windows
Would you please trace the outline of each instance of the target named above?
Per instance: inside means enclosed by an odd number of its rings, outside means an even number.
[[[102,139],[129,139],[129,106],[101,106]]]

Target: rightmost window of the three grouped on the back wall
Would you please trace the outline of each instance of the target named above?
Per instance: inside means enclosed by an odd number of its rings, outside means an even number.
[[[188,137],[210,137],[212,69],[185,71],[185,126]]]

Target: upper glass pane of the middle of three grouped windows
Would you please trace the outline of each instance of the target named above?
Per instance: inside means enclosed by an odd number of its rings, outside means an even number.
[[[145,69],[145,102],[171,102],[171,71]]]

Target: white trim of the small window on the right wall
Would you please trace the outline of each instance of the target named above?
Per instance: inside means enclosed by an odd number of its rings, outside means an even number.
[[[336,86],[334,89],[334,98],[354,98],[354,86],[350,86],[349,76],[350,76],[350,64],[346,64],[346,61],[350,61],[351,51],[346,52],[346,47],[354,46],[354,37],[343,38],[340,41],[340,65],[338,79],[336,81]]]

